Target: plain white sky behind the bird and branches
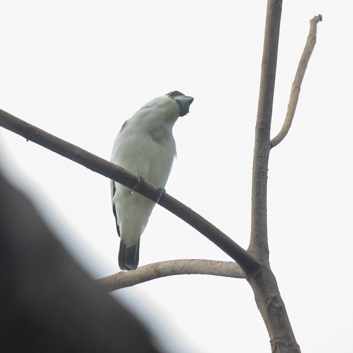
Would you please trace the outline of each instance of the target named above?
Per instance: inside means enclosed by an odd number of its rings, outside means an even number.
[[[353,345],[352,11],[350,1],[283,1],[272,137],[309,20],[323,15],[292,128],[269,161],[270,263],[302,352]],[[3,1],[0,108],[109,160],[145,103],[172,90],[195,97],[174,126],[166,190],[246,249],[265,15],[266,1]],[[109,180],[2,128],[0,139],[23,174],[14,182],[46,199],[98,276],[119,271]],[[230,261],[156,206],[139,265],[179,258]],[[270,352],[245,280],[184,275],[122,291],[192,352]]]

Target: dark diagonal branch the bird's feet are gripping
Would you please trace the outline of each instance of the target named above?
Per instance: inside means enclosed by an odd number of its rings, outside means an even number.
[[[52,150],[74,162],[93,170],[96,173],[102,174],[107,178],[113,179],[118,183],[136,190],[141,195],[148,197],[152,201],[157,202],[160,197],[160,189],[141,180],[138,187],[136,186],[136,176],[127,170],[110,163],[103,158],[97,157],[82,148],[79,148],[71,143],[68,143],[58,137],[55,137],[38,127],[35,127],[27,122],[16,118],[9,113],[0,109],[0,126],[8,130],[16,132],[27,140],[31,140],[45,148]],[[221,232],[213,224],[205,220],[195,211],[173,198],[168,194],[164,194],[158,202],[162,207],[166,208],[176,216],[189,223],[193,228],[211,240],[220,249],[227,253],[241,268],[246,271],[253,271],[259,267],[259,263],[255,258],[226,234]]]

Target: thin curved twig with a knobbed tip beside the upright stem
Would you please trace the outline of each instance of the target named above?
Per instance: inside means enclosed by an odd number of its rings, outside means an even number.
[[[315,16],[310,20],[310,31],[307,38],[303,54],[301,55],[297,73],[295,74],[294,82],[292,84],[291,96],[289,98],[287,115],[285,122],[283,123],[281,131],[276,137],[271,140],[271,148],[278,145],[287,135],[289,128],[292,125],[295,108],[297,108],[300,86],[303,82],[304,74],[308,61],[310,59],[311,53],[314,49],[316,43],[316,27],[319,21],[322,21],[322,16]]]

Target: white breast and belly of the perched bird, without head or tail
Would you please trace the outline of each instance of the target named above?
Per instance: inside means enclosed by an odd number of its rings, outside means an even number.
[[[143,119],[141,113],[144,113]],[[173,125],[161,124],[149,115],[140,110],[128,120],[115,140],[111,161],[133,174],[140,174],[156,187],[164,188],[176,155]],[[112,202],[120,233],[124,234],[126,245],[133,244],[142,234],[154,202],[137,192],[131,193],[119,183],[114,184],[116,192]]]

